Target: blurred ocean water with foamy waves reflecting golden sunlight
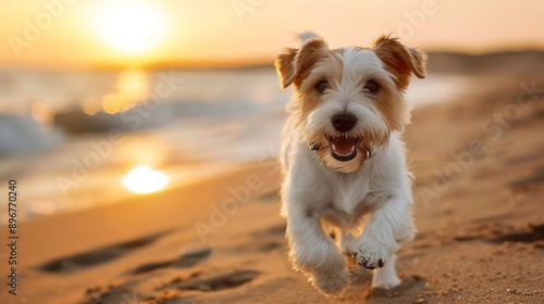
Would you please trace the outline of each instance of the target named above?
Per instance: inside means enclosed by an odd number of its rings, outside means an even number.
[[[431,74],[406,97],[415,106],[447,102],[468,84]],[[1,68],[0,187],[17,181],[25,220],[140,195],[125,182],[138,167],[165,175],[168,189],[272,159],[290,93],[272,67]],[[5,217],[2,204],[0,225]]]

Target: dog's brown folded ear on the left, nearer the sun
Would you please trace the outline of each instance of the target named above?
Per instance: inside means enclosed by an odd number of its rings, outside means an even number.
[[[275,69],[285,89],[292,84],[300,85],[307,71],[322,58],[327,45],[322,38],[308,40],[300,49],[287,48],[275,60]]]

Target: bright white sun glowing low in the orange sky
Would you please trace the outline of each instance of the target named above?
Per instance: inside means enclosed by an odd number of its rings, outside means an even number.
[[[164,33],[164,15],[151,3],[104,2],[96,7],[92,24],[110,47],[137,53],[156,46]]]

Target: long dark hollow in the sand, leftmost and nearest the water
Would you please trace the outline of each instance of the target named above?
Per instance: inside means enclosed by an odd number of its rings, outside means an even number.
[[[46,273],[65,273],[77,270],[81,268],[87,268],[120,258],[123,255],[133,252],[134,249],[143,248],[156,242],[158,239],[164,237],[170,231],[162,231],[144,238],[99,248],[89,252],[61,257],[44,263],[37,268]]]

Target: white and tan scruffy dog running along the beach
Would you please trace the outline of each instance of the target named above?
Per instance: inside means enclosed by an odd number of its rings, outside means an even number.
[[[425,77],[426,54],[391,35],[371,48],[312,38],[274,65],[294,87],[280,152],[294,268],[327,295],[347,287],[349,256],[373,269],[372,288],[398,286],[395,253],[416,233],[404,92],[412,74]]]

